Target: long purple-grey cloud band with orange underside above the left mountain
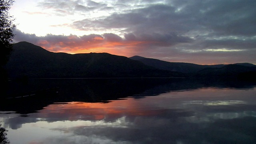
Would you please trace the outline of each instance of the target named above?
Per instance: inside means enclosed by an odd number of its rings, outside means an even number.
[[[53,34],[36,36],[35,34],[25,34],[20,30],[15,30],[14,34],[16,34],[14,42],[31,42],[52,52],[109,52],[116,55],[125,55],[126,52],[128,52],[130,53],[130,56],[135,55],[138,50],[154,49],[154,46],[166,47],[192,41],[188,37],[177,36],[176,34],[144,34],[135,36],[134,34],[129,33],[126,34],[125,38],[121,38],[113,33],[105,33],[102,35],[90,34],[84,36],[76,36],[72,34],[69,36]]]

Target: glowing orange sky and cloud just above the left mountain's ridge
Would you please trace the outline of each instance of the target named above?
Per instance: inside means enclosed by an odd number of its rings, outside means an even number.
[[[78,41],[77,36],[69,36],[68,41],[52,42],[47,40],[39,40],[36,45],[50,52],[64,52],[68,54],[81,53],[110,53],[118,56],[131,57],[137,52],[143,51],[144,46],[157,44],[158,42],[150,41],[108,41],[102,37],[94,37],[90,40]]]

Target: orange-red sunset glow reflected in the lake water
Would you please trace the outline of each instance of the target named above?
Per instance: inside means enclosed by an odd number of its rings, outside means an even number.
[[[75,120],[106,120],[111,121],[122,116],[152,116],[161,113],[162,109],[154,109],[144,102],[133,98],[114,100],[108,103],[68,102],[52,104],[40,110],[42,118]]]

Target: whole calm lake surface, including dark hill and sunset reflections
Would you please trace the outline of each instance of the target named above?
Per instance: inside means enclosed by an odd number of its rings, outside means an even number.
[[[254,83],[50,79],[10,86],[8,94],[59,87],[44,99],[1,106],[11,144],[256,143]]]

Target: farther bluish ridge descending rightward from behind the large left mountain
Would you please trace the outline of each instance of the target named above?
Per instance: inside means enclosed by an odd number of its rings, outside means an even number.
[[[142,56],[132,56],[130,57],[132,60],[138,60],[143,64],[148,66],[152,66],[154,68],[158,68],[161,70],[170,70],[182,73],[196,73],[204,68],[220,68],[224,66],[224,64],[218,65],[199,65],[199,64],[191,64],[184,62],[166,62],[163,60],[158,60],[154,58],[144,58]]]

